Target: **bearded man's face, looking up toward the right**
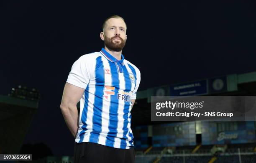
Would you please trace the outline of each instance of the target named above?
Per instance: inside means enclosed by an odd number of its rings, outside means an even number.
[[[126,42],[126,25],[120,18],[111,18],[106,22],[104,42],[111,51],[122,51]]]

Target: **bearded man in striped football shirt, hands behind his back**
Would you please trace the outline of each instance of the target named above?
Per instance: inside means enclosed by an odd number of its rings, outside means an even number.
[[[127,39],[123,18],[105,20],[100,38],[105,43],[100,52],[74,62],[61,100],[75,138],[74,162],[134,163],[131,109],[141,74],[122,54]]]

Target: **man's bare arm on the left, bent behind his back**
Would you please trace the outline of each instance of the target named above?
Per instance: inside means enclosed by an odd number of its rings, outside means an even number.
[[[77,103],[81,99],[83,93],[83,88],[66,83],[61,99],[61,112],[67,127],[69,128],[74,138],[76,137],[78,130],[79,115],[77,111]]]

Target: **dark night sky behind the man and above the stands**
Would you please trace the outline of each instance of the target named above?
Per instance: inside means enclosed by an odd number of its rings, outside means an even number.
[[[127,23],[123,54],[141,71],[139,90],[256,71],[253,0],[1,3],[0,94],[18,85],[41,92],[25,143],[46,143],[54,155],[73,155],[62,91],[74,61],[104,46],[99,35],[110,15]]]

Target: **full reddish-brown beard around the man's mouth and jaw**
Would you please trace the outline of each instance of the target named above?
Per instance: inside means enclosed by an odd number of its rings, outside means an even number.
[[[115,43],[114,38],[119,38],[120,43],[117,43],[117,42]],[[125,46],[125,42],[126,40],[123,40],[123,38],[120,38],[119,36],[114,36],[111,38],[105,36],[104,38],[104,43],[110,51],[122,51],[123,47]]]

